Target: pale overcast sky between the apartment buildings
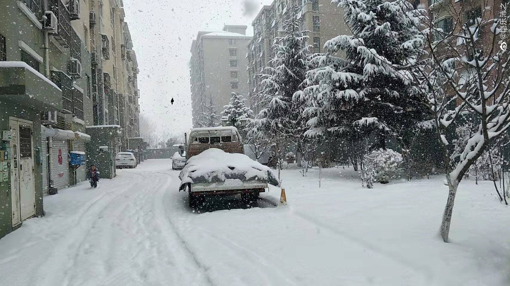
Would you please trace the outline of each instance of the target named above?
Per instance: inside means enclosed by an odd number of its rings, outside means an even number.
[[[191,128],[189,61],[198,31],[247,25],[272,0],[124,0],[140,74],[141,113],[158,131],[182,134]],[[173,97],[174,104],[170,104]]]

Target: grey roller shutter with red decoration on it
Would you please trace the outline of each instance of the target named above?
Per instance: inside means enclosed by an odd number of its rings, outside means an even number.
[[[69,147],[67,140],[53,138],[52,180],[59,190],[69,186]]]

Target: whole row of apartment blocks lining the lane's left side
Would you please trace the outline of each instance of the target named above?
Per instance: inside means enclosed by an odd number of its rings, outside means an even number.
[[[138,135],[138,67],[123,18],[120,0],[4,1],[0,238],[43,215],[45,194],[86,180],[90,164],[113,177],[112,154]]]

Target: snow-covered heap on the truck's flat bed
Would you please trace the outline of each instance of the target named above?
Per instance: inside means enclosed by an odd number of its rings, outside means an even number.
[[[278,185],[268,166],[251,160],[244,154],[225,153],[211,148],[191,157],[179,175],[181,186],[186,183],[218,183],[231,180],[260,181]]]

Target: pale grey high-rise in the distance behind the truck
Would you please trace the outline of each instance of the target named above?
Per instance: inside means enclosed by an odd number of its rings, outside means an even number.
[[[194,127],[200,126],[200,114],[211,103],[219,115],[233,92],[249,100],[245,55],[251,37],[246,36],[246,28],[225,25],[220,32],[198,32],[193,40],[190,76]]]

